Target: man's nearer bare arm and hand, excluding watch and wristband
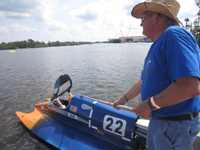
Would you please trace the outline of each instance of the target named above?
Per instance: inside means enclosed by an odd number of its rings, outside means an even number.
[[[198,95],[200,95],[199,78],[191,76],[176,79],[169,87],[153,98],[158,106],[166,107]],[[136,108],[136,114],[143,118],[150,118],[151,113],[147,100]]]

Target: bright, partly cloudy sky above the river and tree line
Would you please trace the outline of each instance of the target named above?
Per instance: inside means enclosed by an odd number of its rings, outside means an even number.
[[[131,16],[144,0],[0,0],[0,43],[24,41],[107,41],[142,35],[140,19]],[[178,18],[193,22],[195,0],[177,0]]]

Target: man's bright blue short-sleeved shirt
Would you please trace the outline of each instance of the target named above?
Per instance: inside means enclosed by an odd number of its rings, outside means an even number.
[[[167,28],[145,58],[141,79],[142,101],[166,89],[175,79],[200,78],[199,46],[194,36],[179,26]],[[200,111],[200,96],[153,111],[154,117],[176,116]]]

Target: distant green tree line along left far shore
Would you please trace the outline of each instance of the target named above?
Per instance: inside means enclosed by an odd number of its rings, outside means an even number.
[[[18,49],[18,48],[37,48],[37,47],[53,47],[53,46],[72,46],[72,45],[81,45],[81,44],[91,44],[91,42],[39,42],[39,41],[34,41],[32,39],[28,39],[27,41],[16,41],[16,42],[9,42],[5,43],[2,42],[0,44],[0,50],[4,49]]]

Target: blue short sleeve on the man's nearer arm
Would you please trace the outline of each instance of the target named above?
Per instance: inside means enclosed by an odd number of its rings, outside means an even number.
[[[199,47],[184,30],[170,30],[166,36],[166,63],[171,81],[186,76],[200,78]]]

